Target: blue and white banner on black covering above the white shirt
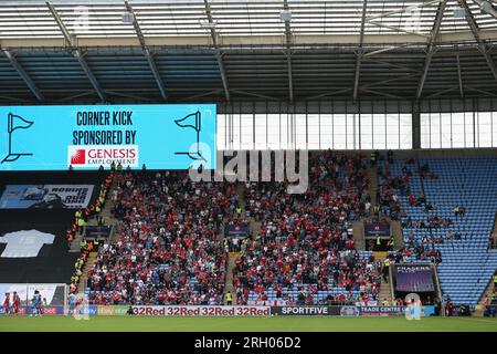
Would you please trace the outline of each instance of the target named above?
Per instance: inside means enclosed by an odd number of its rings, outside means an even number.
[[[0,209],[86,208],[93,189],[93,185],[7,185]]]

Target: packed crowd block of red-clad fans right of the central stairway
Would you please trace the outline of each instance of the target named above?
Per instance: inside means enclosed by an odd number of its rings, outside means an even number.
[[[377,298],[377,263],[359,259],[351,230],[371,207],[363,156],[329,150],[310,156],[305,194],[287,194],[285,183],[250,183],[245,198],[262,229],[235,266],[239,303],[247,303],[251,293],[265,301],[269,289],[288,304],[313,304],[319,291],[329,291],[324,301],[352,300],[353,291],[361,292],[353,300]],[[332,288],[345,291],[331,295]]]

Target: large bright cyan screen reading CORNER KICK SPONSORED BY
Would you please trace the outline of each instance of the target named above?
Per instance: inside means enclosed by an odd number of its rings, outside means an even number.
[[[1,170],[215,168],[214,104],[0,106]]]

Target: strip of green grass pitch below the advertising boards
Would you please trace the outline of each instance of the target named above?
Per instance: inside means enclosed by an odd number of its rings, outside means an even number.
[[[408,321],[404,317],[146,317],[92,316],[76,321],[71,316],[0,317],[0,332],[10,331],[485,331],[497,332],[497,319],[488,317],[427,317]]]

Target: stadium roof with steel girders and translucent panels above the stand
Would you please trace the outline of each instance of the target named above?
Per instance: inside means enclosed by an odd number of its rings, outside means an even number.
[[[2,1],[0,102],[496,96],[484,2]]]

